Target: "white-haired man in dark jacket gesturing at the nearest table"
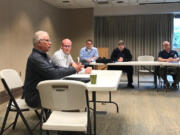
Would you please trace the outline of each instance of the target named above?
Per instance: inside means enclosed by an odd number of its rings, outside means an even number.
[[[57,66],[46,52],[51,47],[49,35],[45,31],[38,31],[33,37],[34,48],[30,54],[26,65],[26,76],[24,83],[24,96],[27,105],[30,107],[39,107],[40,96],[36,89],[40,81],[60,79],[79,72],[81,65],[72,63],[68,68]]]

